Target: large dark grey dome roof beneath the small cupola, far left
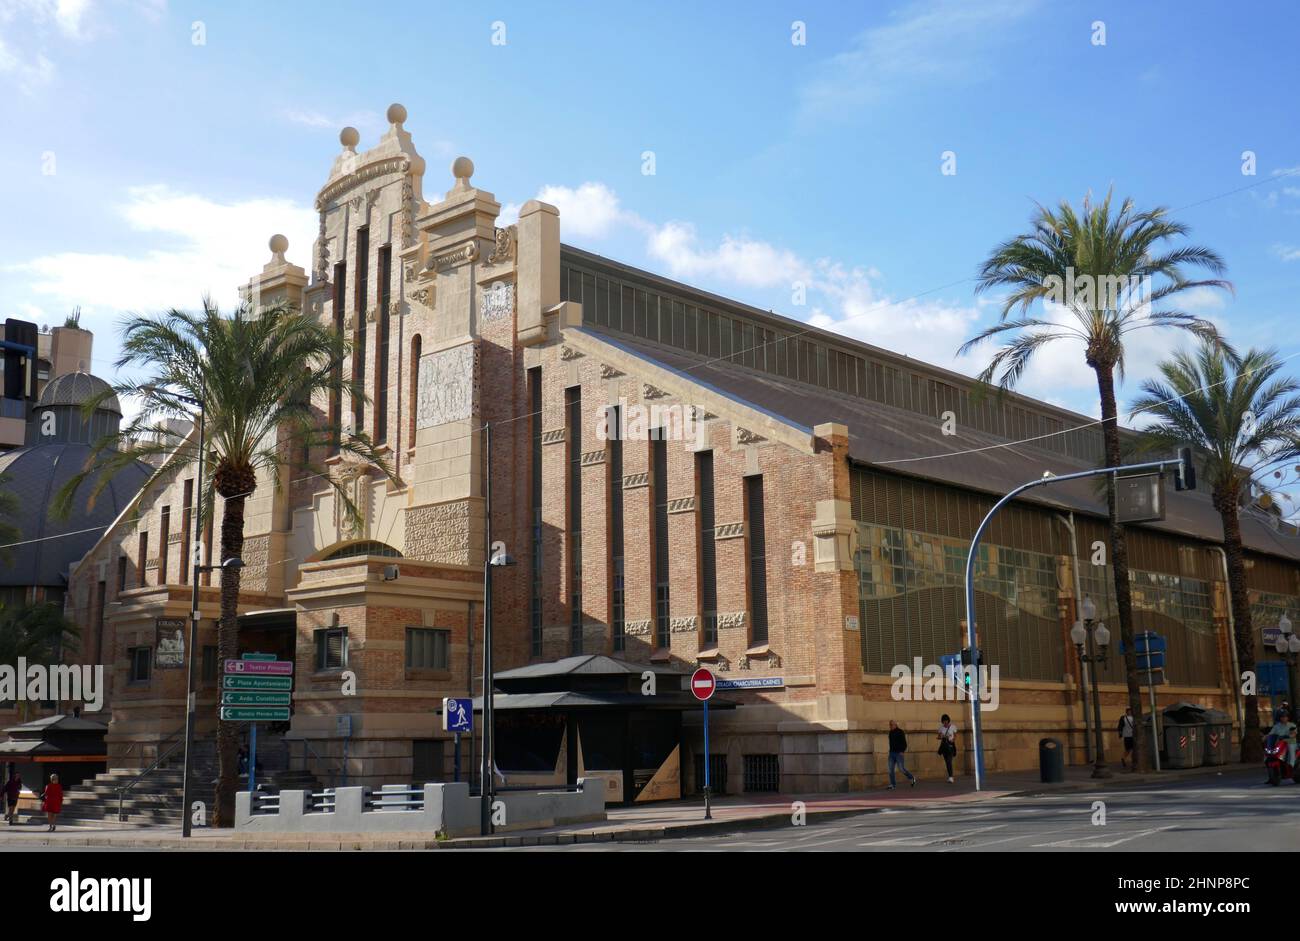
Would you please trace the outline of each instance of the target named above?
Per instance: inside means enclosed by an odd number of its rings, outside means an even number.
[[[68,567],[90,551],[153,473],[143,461],[122,468],[95,498],[94,507],[86,506],[94,487],[86,481],[68,519],[49,519],[55,494],[86,467],[92,450],[90,445],[60,443],[0,454],[0,478],[5,478],[0,486],[18,502],[18,512],[9,521],[18,528],[22,541],[42,539],[9,550],[8,561],[0,565],[0,585],[62,585]],[[60,538],[48,538],[52,535]]]

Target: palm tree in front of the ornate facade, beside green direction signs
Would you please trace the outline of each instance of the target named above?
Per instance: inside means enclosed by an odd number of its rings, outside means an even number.
[[[364,390],[342,377],[347,355],[342,335],[287,304],[257,311],[240,305],[226,317],[205,298],[199,313],[172,309],[157,317],[131,317],[124,325],[117,368],[138,368],[143,377],[118,382],[113,393],[133,396],[140,411],[125,429],[96,442],[92,460],[60,490],[56,512],[68,512],[77,487],[96,469],[104,473],[91,499],[113,473],[142,458],[161,459],[146,486],[195,464],[195,435],[170,432],[161,420],[194,421],[194,403],[202,402],[207,420],[202,516],[205,520],[213,512],[209,491],[214,491],[224,499],[221,561],[238,559],[243,551],[244,503],[257,489],[259,473],[269,476],[277,489],[290,467],[302,476],[318,476],[355,520],[356,508],[346,489],[311,460],[313,451],[351,454],[391,478],[367,435],[344,434],[312,408],[313,398],[326,395],[364,400]],[[90,402],[86,408],[96,404]],[[221,568],[220,660],[238,656],[239,582],[238,568]],[[238,747],[235,724],[218,721],[217,827],[234,821]]]

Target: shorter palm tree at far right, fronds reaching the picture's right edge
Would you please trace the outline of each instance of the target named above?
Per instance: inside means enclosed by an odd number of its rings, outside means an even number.
[[[1191,445],[1210,485],[1214,508],[1223,520],[1223,552],[1238,667],[1254,672],[1254,629],[1245,585],[1242,547],[1242,507],[1266,494],[1264,477],[1279,464],[1300,458],[1300,383],[1283,377],[1274,350],[1251,350],[1244,356],[1223,344],[1202,342],[1195,352],[1178,352],[1160,364],[1164,381],[1141,383],[1132,413],[1156,422],[1145,429],[1143,450]],[[1277,472],[1274,472],[1277,473]],[[1238,677],[1234,677],[1238,682]],[[1258,716],[1252,690],[1247,716]],[[1262,740],[1242,729],[1242,760],[1264,758]]]

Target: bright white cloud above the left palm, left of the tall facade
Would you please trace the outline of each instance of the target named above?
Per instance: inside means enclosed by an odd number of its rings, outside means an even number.
[[[117,207],[126,225],[157,237],[138,252],[66,251],[4,269],[13,303],[42,309],[82,307],[87,326],[116,333],[124,312],[192,308],[204,292],[233,305],[238,286],[270,259],[266,239],[289,238],[289,260],[309,268],[317,214],[285,199],[221,203],[164,185],[133,187]],[[26,295],[23,298],[23,295]],[[9,300],[6,298],[6,300]]]

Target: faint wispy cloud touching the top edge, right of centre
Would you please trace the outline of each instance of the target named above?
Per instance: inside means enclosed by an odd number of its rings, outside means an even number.
[[[920,82],[974,81],[991,68],[989,51],[1036,0],[913,3],[892,22],[859,34],[801,90],[802,116],[844,113]]]

